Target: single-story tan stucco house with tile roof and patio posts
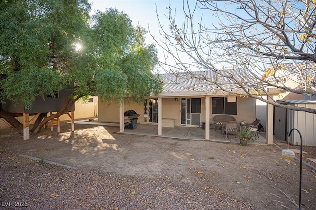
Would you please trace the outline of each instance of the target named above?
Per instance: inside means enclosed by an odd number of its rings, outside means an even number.
[[[238,70],[226,70],[234,77],[242,77]],[[98,103],[101,122],[120,124],[120,132],[124,132],[124,112],[134,110],[140,116],[139,124],[155,124],[158,136],[162,135],[162,127],[202,126],[205,124],[205,139],[210,139],[210,126],[215,115],[230,115],[237,122],[256,119],[256,99],[244,97],[239,93],[243,90],[226,77],[218,77],[213,71],[178,72],[161,74],[163,91],[158,96],[150,96],[141,104],[134,101],[118,103],[115,99]],[[244,78],[247,78],[246,76]],[[222,80],[221,84],[235,94],[222,91],[211,80]],[[241,80],[241,81],[244,81]],[[219,81],[217,81],[219,83]],[[267,89],[269,94],[278,95],[276,89]],[[266,140],[272,144],[273,106],[267,106]]]

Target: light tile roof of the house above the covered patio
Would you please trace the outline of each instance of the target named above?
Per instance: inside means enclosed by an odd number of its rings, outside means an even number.
[[[222,76],[222,75],[225,76]],[[240,89],[236,81],[230,79],[232,76],[237,81],[242,81],[244,85],[252,82],[251,77],[242,73],[238,69],[234,70],[217,70],[216,73],[211,70],[192,71],[192,72],[176,72],[161,74],[163,81],[163,92],[182,92],[182,91],[211,91],[219,90],[217,84],[225,89]]]

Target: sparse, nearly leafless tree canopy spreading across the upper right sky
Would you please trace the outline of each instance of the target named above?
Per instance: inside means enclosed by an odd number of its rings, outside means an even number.
[[[272,87],[316,97],[315,0],[184,0],[180,13],[171,5],[167,9],[166,15],[157,14],[163,38],[156,40],[166,52],[160,63],[165,70],[213,71],[239,86],[236,91],[218,79],[208,81],[227,93],[316,113],[280,104],[267,91]],[[168,19],[168,28],[163,17]],[[289,64],[300,68],[289,69]],[[231,74],[232,69],[240,75]],[[205,78],[201,75],[200,79]],[[251,81],[251,88],[243,81]]]

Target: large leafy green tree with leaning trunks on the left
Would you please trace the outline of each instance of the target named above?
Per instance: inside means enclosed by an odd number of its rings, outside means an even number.
[[[161,91],[151,73],[155,46],[142,44],[145,31],[116,9],[92,16],[90,9],[87,0],[0,1],[1,104],[10,100],[29,109],[36,97],[75,86],[61,110],[40,114],[33,133],[90,95],[139,100]],[[23,132],[2,108],[1,117]]]

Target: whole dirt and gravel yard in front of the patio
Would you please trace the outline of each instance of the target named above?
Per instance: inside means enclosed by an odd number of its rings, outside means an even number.
[[[30,140],[1,130],[2,208],[26,202],[24,209],[297,209],[300,163],[282,158],[279,147],[287,144],[127,135],[97,125],[69,129],[68,123],[59,134],[43,129]],[[316,158],[316,148],[303,150],[304,158]],[[301,206],[315,209],[316,165],[302,167]]]

